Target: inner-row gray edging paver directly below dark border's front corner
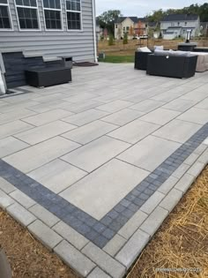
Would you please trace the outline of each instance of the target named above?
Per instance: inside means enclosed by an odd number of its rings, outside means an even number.
[[[85,246],[82,252],[93,260],[101,269],[107,272],[114,278],[122,278],[125,273],[125,267],[118,261],[110,257],[106,252],[103,252],[96,245],[89,243]]]

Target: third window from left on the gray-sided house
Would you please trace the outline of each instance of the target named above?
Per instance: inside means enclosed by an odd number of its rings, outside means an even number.
[[[62,8],[60,0],[43,0],[46,29],[62,30]]]

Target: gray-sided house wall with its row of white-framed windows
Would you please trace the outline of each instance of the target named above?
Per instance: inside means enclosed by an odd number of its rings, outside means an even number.
[[[0,52],[94,61],[94,0],[0,0]]]

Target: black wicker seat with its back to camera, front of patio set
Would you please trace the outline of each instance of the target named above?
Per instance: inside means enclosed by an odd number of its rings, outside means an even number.
[[[195,75],[197,56],[149,55],[146,73],[165,77],[188,79]]]

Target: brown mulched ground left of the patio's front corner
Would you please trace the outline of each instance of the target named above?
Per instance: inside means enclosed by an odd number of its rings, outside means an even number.
[[[2,210],[0,244],[11,263],[13,278],[78,278],[55,253],[49,252]]]

